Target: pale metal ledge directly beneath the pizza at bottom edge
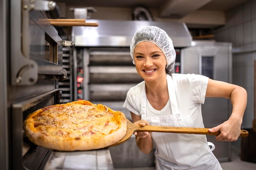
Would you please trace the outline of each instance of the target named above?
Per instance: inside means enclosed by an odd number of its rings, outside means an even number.
[[[108,148],[89,151],[55,151],[43,170],[114,170]]]

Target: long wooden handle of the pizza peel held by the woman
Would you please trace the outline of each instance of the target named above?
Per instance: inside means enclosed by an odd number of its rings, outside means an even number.
[[[169,127],[169,126],[144,126],[139,127],[135,131],[148,132],[171,132],[171,133],[187,133],[200,135],[219,135],[220,132],[208,132],[209,128],[185,128],[185,127]],[[246,130],[241,130],[240,137],[247,137],[249,133]]]

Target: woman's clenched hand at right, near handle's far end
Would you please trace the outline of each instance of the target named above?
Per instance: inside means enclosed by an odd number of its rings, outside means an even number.
[[[216,135],[217,141],[236,141],[241,133],[241,123],[230,117],[227,121],[208,131],[220,132],[219,135]]]

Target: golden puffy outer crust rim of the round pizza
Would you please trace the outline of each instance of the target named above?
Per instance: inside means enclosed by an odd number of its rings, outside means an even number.
[[[107,146],[115,144],[117,141],[121,140],[126,134],[127,124],[126,124],[126,118],[124,113],[120,111],[114,111],[101,104],[95,105],[85,100],[79,100],[71,103],[96,106],[100,110],[106,110],[107,108],[108,113],[112,113],[113,117],[118,120],[119,122],[118,128],[111,130],[110,133],[107,135],[96,133],[94,135],[90,135],[90,137],[77,137],[77,138],[51,136],[51,135],[47,135],[42,132],[39,132],[35,128],[33,117],[43,112],[43,109],[39,109],[39,110],[36,110],[34,113],[31,113],[24,121],[24,130],[28,139],[36,145],[43,146],[45,148],[49,148],[53,150],[61,150],[61,151],[94,150],[94,149],[105,148]],[[58,106],[58,105],[54,105],[54,106]],[[93,124],[93,122],[91,123]]]

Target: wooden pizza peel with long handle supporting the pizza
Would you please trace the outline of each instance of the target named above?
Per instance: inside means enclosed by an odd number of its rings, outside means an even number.
[[[127,120],[127,131],[123,139],[108,147],[117,146],[123,144],[130,139],[134,132],[169,132],[169,133],[186,133],[186,134],[200,134],[200,135],[219,135],[220,132],[208,132],[209,128],[186,128],[186,127],[171,127],[171,126],[144,126],[133,124],[130,120]],[[240,137],[247,137],[249,133],[246,130],[241,130]]]

